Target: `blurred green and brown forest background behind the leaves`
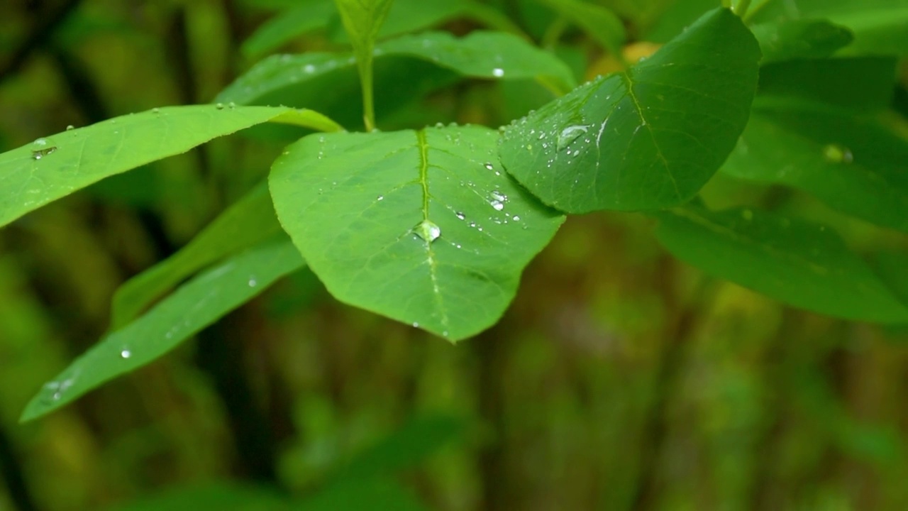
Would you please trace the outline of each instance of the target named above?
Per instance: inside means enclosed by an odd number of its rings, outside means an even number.
[[[0,151],[212,101],[254,62],[242,42],[293,4],[2,0]],[[544,7],[488,4],[551,39]],[[639,36],[668,3],[602,4]],[[555,38],[578,77],[607,70],[586,36]],[[334,47],[315,30],[281,49]],[[385,83],[418,82],[425,67],[401,66]],[[551,99],[531,83],[435,79],[380,106],[379,125],[497,126]],[[357,118],[359,95],[347,99],[296,106]],[[459,346],[341,306],[303,272],[170,356],[19,425],[40,386],[104,335],[116,287],[183,246],[298,135],[233,135],[0,231],[0,510],[279,508],[264,487],[327,499],[312,509],[402,508],[331,500],[356,495],[342,481],[363,474],[395,482],[377,484],[414,509],[908,508],[908,333],[703,276],[641,215],[569,218],[498,326]],[[706,195],[779,200],[729,178]],[[852,245],[891,243],[807,197],[785,204]],[[130,504],[162,492],[183,493]]]

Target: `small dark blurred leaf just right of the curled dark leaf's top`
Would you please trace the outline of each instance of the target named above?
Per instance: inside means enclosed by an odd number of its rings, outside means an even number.
[[[847,46],[854,35],[844,26],[825,20],[787,20],[751,27],[763,64],[795,58],[823,58]]]

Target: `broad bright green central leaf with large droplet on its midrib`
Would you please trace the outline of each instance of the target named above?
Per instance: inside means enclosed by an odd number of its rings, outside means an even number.
[[[306,136],[271,167],[284,230],[333,296],[457,341],[493,325],[561,215],[479,126]]]

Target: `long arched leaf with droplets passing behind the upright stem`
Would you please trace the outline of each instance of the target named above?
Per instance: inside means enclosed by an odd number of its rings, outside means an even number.
[[[495,48],[495,51],[491,52],[489,48]],[[395,55],[415,57],[474,78],[536,78],[553,84],[558,90],[568,90],[575,85],[570,69],[558,57],[515,35],[499,32],[474,31],[462,38],[447,32],[429,32],[391,39],[375,48],[377,59]],[[331,80],[328,85],[336,88],[337,80],[332,75],[355,63],[349,54],[273,55],[228,85],[218,95],[218,101],[245,105],[279,97],[286,91],[287,96],[317,97],[321,104],[330,90],[309,92],[303,87],[312,81]],[[400,81],[398,76],[394,79]],[[349,102],[349,96],[344,101]]]

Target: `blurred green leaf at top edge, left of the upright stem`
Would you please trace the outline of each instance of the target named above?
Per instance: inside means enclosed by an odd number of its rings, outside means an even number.
[[[272,17],[243,41],[242,54],[247,57],[265,55],[295,37],[328,25],[334,12],[331,0],[309,0],[295,5]]]

